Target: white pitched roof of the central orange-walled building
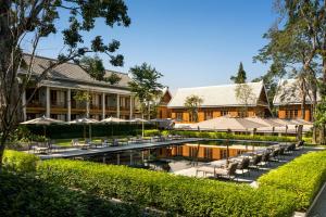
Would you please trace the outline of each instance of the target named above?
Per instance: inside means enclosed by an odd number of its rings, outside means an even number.
[[[248,82],[252,89],[254,100],[249,103],[249,106],[255,106],[259,103],[261,92],[264,90],[264,84],[260,82]],[[209,87],[196,87],[196,88],[180,88],[176,94],[172,98],[167,107],[181,108],[184,107],[185,101],[189,95],[198,95],[203,102],[201,107],[218,107],[218,106],[241,106],[243,103],[239,102],[236,97],[237,85],[221,85],[221,86],[209,86]],[[267,106],[267,105],[266,105]]]

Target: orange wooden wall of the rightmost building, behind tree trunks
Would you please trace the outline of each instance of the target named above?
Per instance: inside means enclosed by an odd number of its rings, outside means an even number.
[[[311,105],[305,105],[304,108],[304,120],[311,122],[312,120],[312,112],[311,112]],[[278,118],[281,119],[296,119],[301,118],[302,112],[301,112],[301,105],[281,105],[278,106]]]

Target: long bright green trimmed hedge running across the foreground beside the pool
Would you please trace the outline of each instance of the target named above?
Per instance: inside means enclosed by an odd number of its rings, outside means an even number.
[[[38,165],[47,182],[185,216],[290,216],[294,195],[284,190],[196,179],[125,166],[50,159]]]

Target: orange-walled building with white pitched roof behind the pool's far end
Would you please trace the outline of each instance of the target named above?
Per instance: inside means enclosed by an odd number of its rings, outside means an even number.
[[[241,88],[243,88],[243,91]],[[246,91],[247,95],[241,94],[242,97],[239,98],[237,91]],[[167,104],[167,108],[171,110],[171,118],[179,123],[192,123],[191,113],[185,106],[186,99],[190,95],[197,95],[202,99],[198,122],[225,115],[231,117],[266,117],[271,115],[263,81],[248,82],[246,85],[180,88]]]

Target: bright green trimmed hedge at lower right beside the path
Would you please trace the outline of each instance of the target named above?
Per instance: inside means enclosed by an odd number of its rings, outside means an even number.
[[[259,178],[260,187],[294,192],[297,209],[306,209],[326,181],[326,151],[304,154]]]

